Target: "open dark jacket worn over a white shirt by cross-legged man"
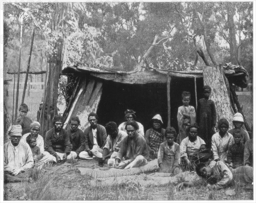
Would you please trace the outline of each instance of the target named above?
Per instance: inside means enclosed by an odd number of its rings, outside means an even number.
[[[87,127],[84,130],[84,136],[85,136],[85,151],[87,151],[88,149],[93,149],[93,131],[91,127]],[[106,144],[106,140],[107,140],[107,132],[105,127],[103,127],[102,125],[97,124],[97,143],[99,145],[100,148],[103,149],[103,147]]]

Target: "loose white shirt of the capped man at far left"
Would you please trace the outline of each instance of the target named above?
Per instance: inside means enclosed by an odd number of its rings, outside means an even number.
[[[34,165],[32,151],[27,143],[13,146],[11,141],[3,146],[4,171],[17,175],[20,171],[32,168]]]

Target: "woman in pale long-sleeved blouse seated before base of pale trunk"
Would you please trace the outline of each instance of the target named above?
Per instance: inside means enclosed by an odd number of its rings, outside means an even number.
[[[229,123],[227,119],[218,121],[219,132],[212,135],[212,153],[214,161],[227,163],[227,150],[234,144],[233,135],[227,132]]]

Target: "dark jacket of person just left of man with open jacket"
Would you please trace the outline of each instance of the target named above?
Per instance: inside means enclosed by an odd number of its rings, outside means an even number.
[[[72,144],[71,151],[74,151],[79,155],[80,152],[85,149],[85,137],[84,132],[81,129],[77,129],[76,132],[71,132],[70,129],[67,130],[70,138],[70,143]]]

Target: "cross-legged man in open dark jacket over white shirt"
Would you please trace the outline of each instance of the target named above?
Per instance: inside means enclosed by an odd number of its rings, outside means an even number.
[[[96,113],[88,115],[90,126],[84,130],[85,135],[85,149],[80,153],[81,159],[88,159],[88,155],[97,158],[102,158],[103,147],[106,144],[107,133],[105,127],[97,124],[99,117]]]

